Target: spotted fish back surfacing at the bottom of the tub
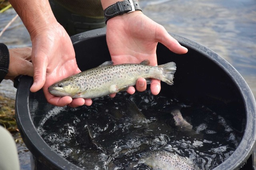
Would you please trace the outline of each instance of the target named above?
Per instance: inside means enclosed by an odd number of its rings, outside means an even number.
[[[166,150],[152,150],[146,153],[141,162],[152,170],[198,170],[189,158]]]

